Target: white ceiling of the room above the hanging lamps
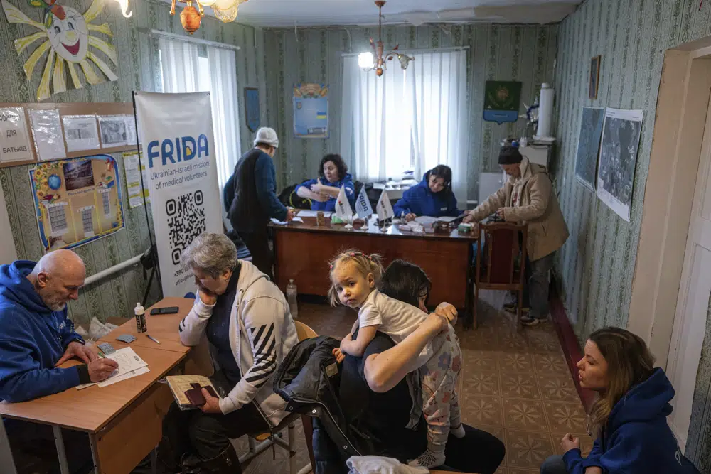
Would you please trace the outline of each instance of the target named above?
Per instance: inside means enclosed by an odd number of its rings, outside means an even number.
[[[387,0],[384,23],[555,23],[582,0]],[[254,26],[374,25],[373,0],[248,0],[237,21]]]

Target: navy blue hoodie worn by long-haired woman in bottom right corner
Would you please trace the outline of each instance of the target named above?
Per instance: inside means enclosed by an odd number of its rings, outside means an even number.
[[[633,387],[614,406],[602,439],[597,438],[587,458],[579,449],[565,456],[569,474],[584,474],[590,466],[615,474],[697,474],[676,442],[666,417],[671,413],[669,401],[674,388],[661,369]]]

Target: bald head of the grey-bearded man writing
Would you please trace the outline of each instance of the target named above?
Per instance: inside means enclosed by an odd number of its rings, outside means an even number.
[[[71,250],[55,250],[42,257],[27,278],[48,308],[62,311],[70,299],[79,298],[86,267]]]

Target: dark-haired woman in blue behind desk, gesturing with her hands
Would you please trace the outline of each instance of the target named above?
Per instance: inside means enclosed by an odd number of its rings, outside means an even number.
[[[348,166],[341,155],[326,155],[319,164],[319,177],[304,181],[296,186],[296,195],[311,200],[311,210],[336,210],[336,198],[341,192],[341,186],[346,188],[346,198],[355,205],[355,186],[353,176],[348,174]]]

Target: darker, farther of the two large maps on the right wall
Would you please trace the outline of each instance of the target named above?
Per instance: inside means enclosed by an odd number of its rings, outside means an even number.
[[[594,191],[597,156],[600,151],[605,109],[582,107],[582,114],[580,115],[580,135],[578,136],[578,150],[575,156],[575,177],[586,188]]]

